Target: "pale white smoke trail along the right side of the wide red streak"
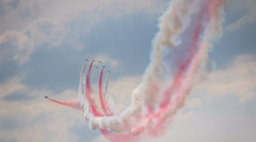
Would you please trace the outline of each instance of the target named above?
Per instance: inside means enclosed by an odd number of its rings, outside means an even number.
[[[214,0],[209,1],[209,3],[207,3],[209,4],[207,9],[207,25],[204,31],[202,42],[199,45],[199,50],[194,58],[192,58],[190,68],[186,72],[186,75],[184,75],[185,77],[183,77],[183,80],[181,80],[180,86],[176,87],[176,94],[171,99],[172,105],[167,109],[161,108],[161,111],[166,111],[166,113],[159,111],[159,114],[162,114],[161,119],[158,120],[159,122],[165,121],[169,115],[175,114],[178,109],[184,106],[185,100],[194,86],[194,81],[200,65],[203,61],[207,60],[207,53],[212,47],[214,39],[220,35],[220,31],[222,31],[221,10],[223,9],[225,1]]]

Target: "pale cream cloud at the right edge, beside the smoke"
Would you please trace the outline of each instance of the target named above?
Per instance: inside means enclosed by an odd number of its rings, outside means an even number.
[[[245,102],[255,96],[255,80],[255,56],[239,55],[228,68],[212,72],[208,81],[196,86],[194,93],[207,96],[237,95],[240,102]]]

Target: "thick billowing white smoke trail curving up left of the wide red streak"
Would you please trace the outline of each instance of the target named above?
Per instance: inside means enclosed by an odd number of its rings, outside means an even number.
[[[190,22],[190,15],[196,12],[196,10],[194,10],[196,4],[197,2],[192,0],[174,0],[171,2],[169,9],[160,19],[160,32],[154,39],[151,62],[145,71],[144,80],[132,93],[132,106],[124,111],[119,118],[92,117],[90,119],[91,129],[99,128],[115,132],[129,131],[137,133],[138,129],[132,129],[133,127],[137,127],[139,123],[143,125],[148,124],[148,121],[142,119],[143,115],[146,113],[144,106],[150,104],[155,105],[156,103],[155,98],[158,96],[155,95],[156,92],[152,90],[152,83],[158,83],[158,80],[161,79],[162,54],[166,47],[175,47],[177,45],[175,42],[176,38],[184,31],[185,27]],[[193,9],[190,7],[193,7]],[[170,20],[173,20],[174,23],[170,23]],[[116,127],[120,129],[113,129],[112,122],[115,122]]]

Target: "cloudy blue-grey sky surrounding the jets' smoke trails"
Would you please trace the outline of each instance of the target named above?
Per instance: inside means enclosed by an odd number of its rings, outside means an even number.
[[[77,102],[84,58],[102,60],[118,108],[149,63],[151,40],[168,0],[0,0],[0,141],[105,142],[80,111],[43,99]],[[152,142],[254,142],[256,1],[230,0],[222,37],[169,129]],[[100,70],[92,71],[97,88]],[[97,90],[97,89],[95,89]],[[97,92],[95,92],[95,95]]]

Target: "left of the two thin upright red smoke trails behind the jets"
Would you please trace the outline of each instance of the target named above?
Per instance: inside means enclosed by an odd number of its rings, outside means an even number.
[[[101,114],[100,111],[98,110],[98,106],[97,106],[95,100],[91,98],[91,93],[93,93],[93,89],[92,89],[91,83],[90,83],[90,75],[91,75],[92,64],[93,64],[93,62],[91,62],[91,65],[89,67],[89,71],[88,71],[87,76],[86,76],[85,97],[87,98],[88,102],[90,103],[90,108],[92,110],[92,114],[96,117],[100,117],[100,116],[103,116],[103,114]]]

